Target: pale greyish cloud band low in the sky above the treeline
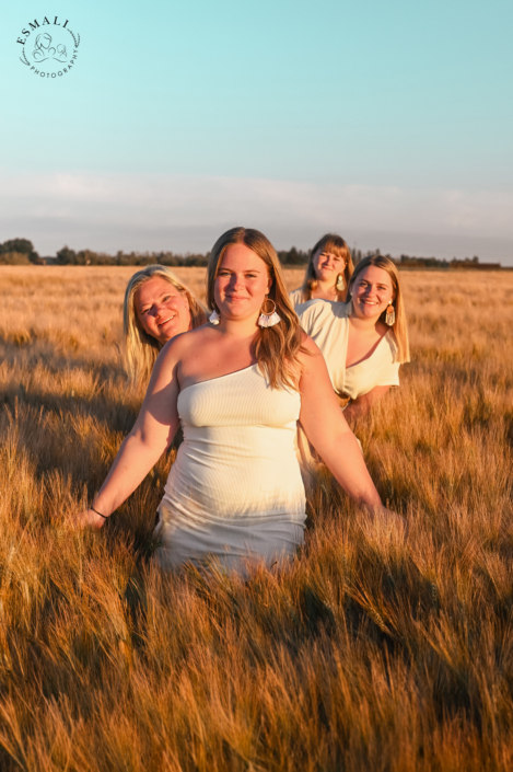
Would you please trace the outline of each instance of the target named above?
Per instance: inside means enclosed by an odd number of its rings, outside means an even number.
[[[299,246],[338,230],[359,240],[363,233],[500,240],[501,253],[513,254],[510,193],[237,177],[0,174],[0,239],[26,235],[47,253],[65,242],[106,251],[178,251],[184,239],[190,240],[185,249],[202,250],[220,229],[242,223],[278,241],[292,238]],[[79,244],[79,238],[86,243]],[[386,244],[381,247],[386,251]]]

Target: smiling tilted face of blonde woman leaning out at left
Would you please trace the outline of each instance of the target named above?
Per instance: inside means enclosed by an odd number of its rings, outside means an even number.
[[[193,329],[187,296],[162,276],[144,281],[133,300],[141,327],[159,343]]]

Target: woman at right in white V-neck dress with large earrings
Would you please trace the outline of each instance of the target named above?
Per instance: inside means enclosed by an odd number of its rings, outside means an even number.
[[[399,274],[374,255],[358,263],[349,303],[311,301],[300,306],[303,330],[323,352],[345,416],[355,417],[399,385],[399,366],[410,360]]]

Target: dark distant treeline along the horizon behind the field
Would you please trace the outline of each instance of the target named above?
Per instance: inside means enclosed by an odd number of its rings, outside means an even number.
[[[359,263],[363,257],[369,255],[381,254],[380,250],[371,250],[362,252],[361,250],[351,251],[354,263]],[[282,265],[305,265],[310,258],[310,250],[303,251],[292,246],[290,250],[280,250],[278,257]],[[479,263],[479,257],[474,256],[471,260],[452,261],[438,260],[436,257],[410,257],[409,255],[400,255],[400,258],[392,257],[387,254],[385,257],[393,260],[400,268],[475,268],[475,269],[500,269],[500,263]],[[0,244],[0,265],[152,265],[160,263],[170,267],[179,266],[200,266],[208,264],[209,253],[177,255],[173,252],[117,252],[115,256],[107,255],[104,252],[94,252],[93,250],[80,250],[75,252],[69,246],[63,246],[59,250],[55,257],[40,257],[34,250],[32,241],[28,239],[10,239]]]

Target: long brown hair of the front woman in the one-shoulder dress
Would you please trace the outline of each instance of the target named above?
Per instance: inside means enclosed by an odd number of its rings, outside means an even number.
[[[272,286],[268,297],[276,303],[276,312],[281,322],[272,327],[258,327],[252,344],[263,375],[273,389],[289,387],[298,389],[299,360],[302,350],[302,330],[298,315],[289,300],[283,272],[275,247],[270,241],[253,228],[231,228],[223,233],[209,257],[207,302],[210,309],[219,312],[214,300],[214,284],[226,249],[231,244],[245,244],[267,265]]]

